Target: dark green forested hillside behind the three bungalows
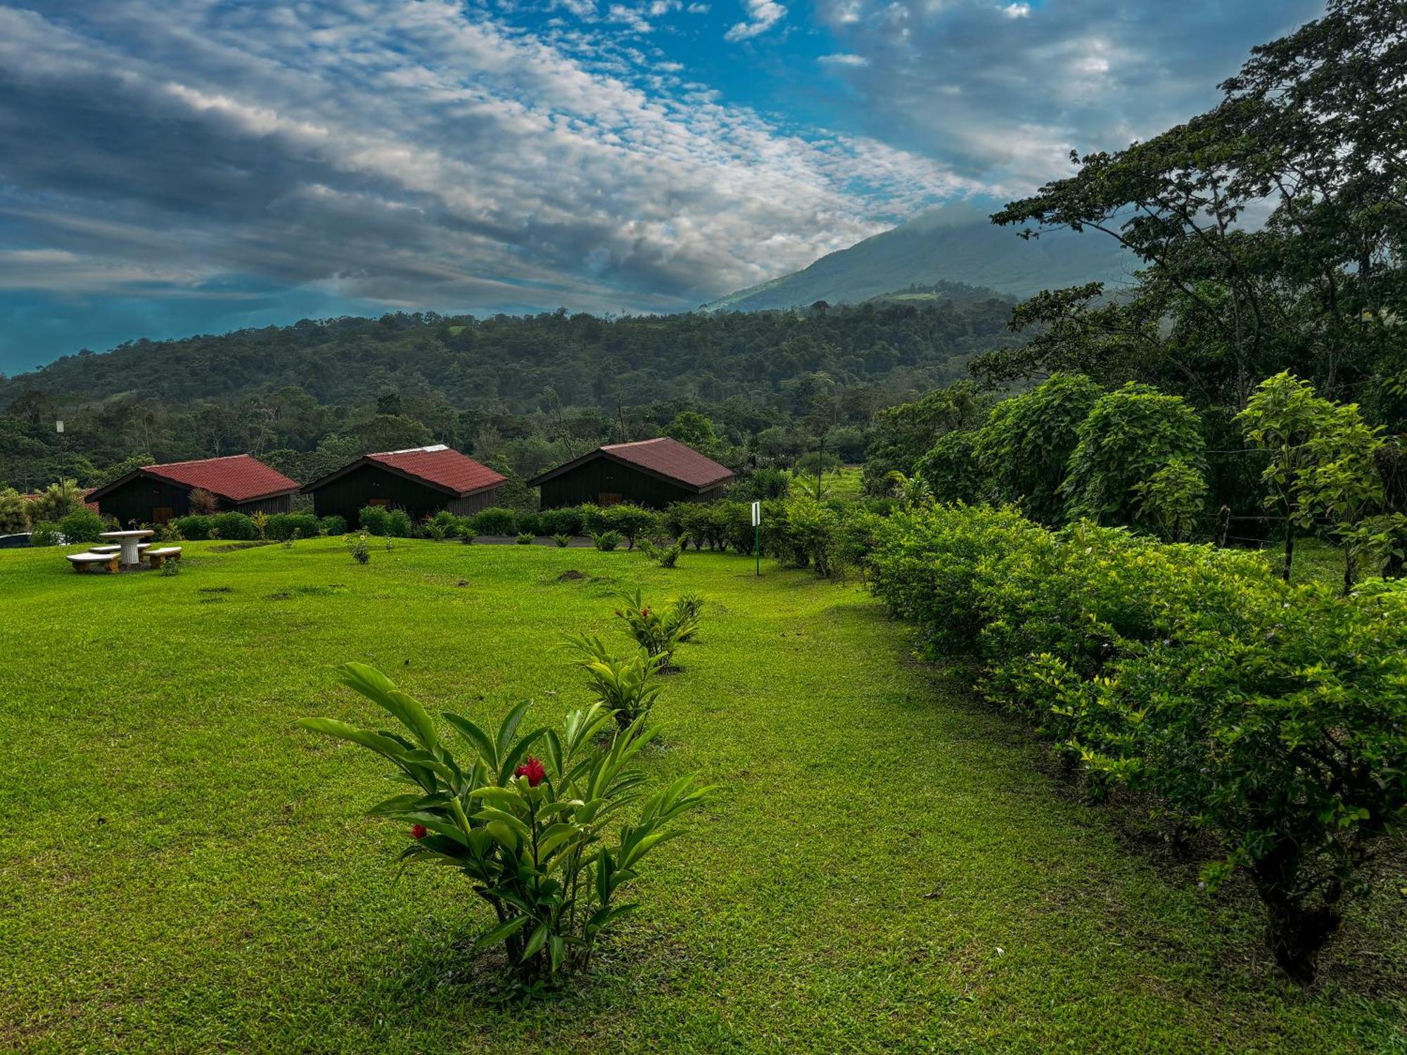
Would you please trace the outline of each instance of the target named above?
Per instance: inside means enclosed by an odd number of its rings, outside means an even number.
[[[657,433],[681,411],[718,429],[681,437],[723,457],[794,457],[827,428],[832,450],[860,459],[877,411],[1012,340],[1009,301],[961,294],[618,319],[397,314],[139,340],[0,380],[0,484],[89,484],[128,459],[232,452],[305,477],[431,440],[532,473],[599,439]]]

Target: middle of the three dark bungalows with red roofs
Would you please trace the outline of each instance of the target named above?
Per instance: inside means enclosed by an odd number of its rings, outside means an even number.
[[[438,443],[433,447],[363,454],[325,477],[304,484],[318,516],[357,522],[364,506],[404,509],[419,520],[440,509],[464,516],[487,509],[507,477],[467,454]]]

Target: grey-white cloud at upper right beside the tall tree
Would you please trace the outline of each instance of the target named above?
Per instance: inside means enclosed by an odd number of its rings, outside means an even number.
[[[865,59],[834,66],[855,121],[1012,194],[1064,174],[1071,148],[1119,149],[1214,106],[1254,45],[1321,11],[1323,0],[816,0],[841,53]]]

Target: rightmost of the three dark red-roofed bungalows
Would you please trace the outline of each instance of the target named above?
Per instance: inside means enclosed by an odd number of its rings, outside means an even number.
[[[723,497],[733,471],[678,440],[661,436],[611,443],[528,481],[542,488],[542,508],[595,502],[636,502],[663,509],[670,502],[708,502]]]

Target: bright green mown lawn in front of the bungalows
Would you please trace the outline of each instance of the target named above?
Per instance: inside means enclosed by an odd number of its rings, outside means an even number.
[[[187,543],[176,577],[0,553],[0,1048],[1384,1051],[1407,1048],[1407,878],[1309,993],[1241,889],[909,658],[854,582],[694,554]],[[567,570],[580,581],[559,581]],[[616,588],[708,598],[651,778],[725,791],[647,861],[571,996],[485,999],[467,883],[397,875],[386,765],[293,720],[377,722],[332,665],[497,720],[587,702],[563,632]],[[378,723],[380,724],[380,723]]]

